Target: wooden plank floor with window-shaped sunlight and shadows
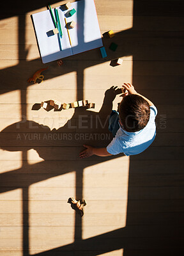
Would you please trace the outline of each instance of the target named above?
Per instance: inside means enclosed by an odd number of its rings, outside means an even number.
[[[47,1],[1,4],[1,256],[168,256],[183,249],[183,1],[95,4],[101,33],[116,33],[103,37],[107,58],[95,49],[63,59],[62,67],[43,65],[36,45],[30,15]],[[123,64],[112,67],[119,57]],[[44,82],[28,84],[42,67]],[[111,141],[108,89],[125,82],[157,106],[157,138],[137,156],[79,159],[84,143]],[[50,99],[96,106],[39,108]],[[86,200],[82,218],[71,196]]]

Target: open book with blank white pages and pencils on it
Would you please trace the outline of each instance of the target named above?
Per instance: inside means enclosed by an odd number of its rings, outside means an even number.
[[[62,38],[59,34],[50,33],[55,28],[50,10],[31,15],[43,63],[103,46],[94,0],[74,2],[68,10],[62,10],[61,7],[57,7],[57,11],[63,32]],[[68,17],[68,11],[73,8],[76,12]],[[53,8],[52,13],[56,18]],[[72,46],[70,45],[65,18],[68,24],[72,20],[77,23],[74,28],[68,29]]]

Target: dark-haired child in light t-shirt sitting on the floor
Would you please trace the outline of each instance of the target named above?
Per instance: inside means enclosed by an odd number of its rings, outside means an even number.
[[[150,100],[137,93],[132,84],[125,83],[123,87],[127,89],[127,93],[119,104],[119,113],[112,111],[109,118],[109,130],[115,137],[106,148],[84,145],[86,149],[81,152],[80,158],[119,153],[136,155],[155,140],[157,108]]]

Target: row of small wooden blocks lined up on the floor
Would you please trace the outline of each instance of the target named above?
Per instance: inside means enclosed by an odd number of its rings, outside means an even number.
[[[55,109],[60,109],[61,106],[63,109],[69,108],[77,108],[77,107],[88,107],[88,108],[95,108],[95,103],[89,103],[88,100],[78,100],[72,103],[63,103],[57,100],[49,100],[47,102],[42,102],[41,107],[47,109],[48,106],[53,106]]]

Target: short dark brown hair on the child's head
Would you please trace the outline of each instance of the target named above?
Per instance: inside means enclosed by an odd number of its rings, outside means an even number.
[[[119,119],[125,131],[140,131],[150,119],[150,105],[139,95],[127,95],[119,105]]]

